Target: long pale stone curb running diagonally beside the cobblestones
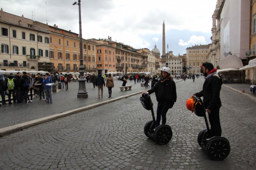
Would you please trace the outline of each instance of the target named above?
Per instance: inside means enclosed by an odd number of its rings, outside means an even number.
[[[62,117],[66,117],[66,116],[69,116],[69,115],[72,115],[72,114],[75,114],[75,113],[79,113],[79,112],[82,112],[82,111],[87,111],[87,110],[90,110],[92,108],[96,108],[98,106],[102,106],[102,105],[105,105],[105,104],[108,104],[108,103],[111,103],[111,102],[115,102],[115,101],[120,100],[120,99],[124,99],[124,98],[128,98],[130,96],[140,94],[142,92],[143,91],[132,93],[132,94],[127,94],[125,96],[119,96],[119,97],[116,97],[114,99],[99,102],[99,103],[89,105],[89,106],[84,106],[84,107],[77,108],[77,109],[74,109],[74,110],[71,110],[71,111],[66,111],[66,112],[63,112],[63,113],[58,113],[58,114],[43,117],[43,118],[40,118],[40,119],[35,119],[35,120],[29,121],[29,122],[20,123],[18,125],[4,127],[4,128],[0,129],[0,137],[7,136],[9,134],[16,133],[16,132],[21,131],[23,129],[27,129],[27,128],[32,127],[32,126],[40,125],[42,123],[49,122],[49,121],[59,119],[59,118],[62,118]]]

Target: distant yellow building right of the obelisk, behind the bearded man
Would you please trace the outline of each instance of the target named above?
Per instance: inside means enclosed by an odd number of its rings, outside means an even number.
[[[186,48],[186,73],[202,73],[202,65],[208,59],[208,45],[195,45]]]

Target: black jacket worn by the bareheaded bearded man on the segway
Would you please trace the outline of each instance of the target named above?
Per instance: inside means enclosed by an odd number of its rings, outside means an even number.
[[[204,108],[212,110],[221,107],[221,91],[222,79],[218,74],[213,74],[209,79],[204,81],[203,90],[194,94],[197,97],[204,97]]]

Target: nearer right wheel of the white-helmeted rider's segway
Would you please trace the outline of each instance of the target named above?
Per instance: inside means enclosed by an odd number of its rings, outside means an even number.
[[[154,140],[158,144],[167,144],[172,139],[172,128],[169,125],[160,125],[154,132]]]

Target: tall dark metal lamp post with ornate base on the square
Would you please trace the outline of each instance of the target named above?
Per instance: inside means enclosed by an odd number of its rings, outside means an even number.
[[[81,0],[78,0],[78,3],[74,2],[73,5],[79,6],[79,48],[80,48],[80,65],[79,65],[79,89],[77,93],[77,98],[88,98],[86,91],[84,78],[84,65],[83,65],[83,41],[82,41],[82,22],[81,22]]]

